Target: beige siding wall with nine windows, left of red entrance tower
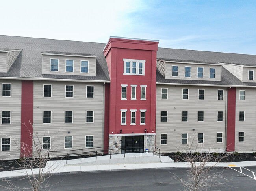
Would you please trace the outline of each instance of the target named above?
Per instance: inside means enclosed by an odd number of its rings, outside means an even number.
[[[43,84],[52,85],[51,98],[43,98]],[[74,85],[74,98],[65,98],[65,85]],[[87,85],[94,86],[94,98],[86,98]],[[41,139],[55,137],[51,151],[85,149],[85,136],[90,135],[94,148],[103,146],[103,87],[103,83],[34,82],[34,131]],[[43,124],[43,111],[52,111],[51,124]],[[65,123],[65,111],[73,111],[73,123]],[[86,111],[94,111],[93,123],[86,123]],[[72,149],[64,149],[64,136],[73,136]]]

